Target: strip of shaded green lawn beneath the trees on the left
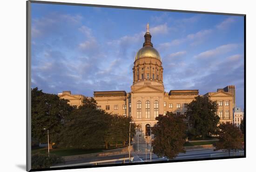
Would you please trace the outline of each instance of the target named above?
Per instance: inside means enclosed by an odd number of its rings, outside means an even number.
[[[120,148],[120,147],[119,147]],[[109,149],[106,148],[99,148],[99,149],[64,149],[64,148],[55,148],[50,150],[50,154],[55,154],[61,157],[64,156],[72,156],[72,155],[81,155],[81,154],[88,154],[88,153],[98,153],[103,152],[104,150],[111,150],[115,149],[115,146],[110,146]],[[47,154],[48,152],[47,147],[44,148],[32,148],[32,154],[34,153],[41,153]]]

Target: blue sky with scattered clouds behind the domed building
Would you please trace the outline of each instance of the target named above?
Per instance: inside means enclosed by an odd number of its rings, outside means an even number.
[[[236,86],[244,108],[242,16],[32,3],[32,87],[93,96],[130,92],[136,52],[149,22],[170,90],[199,94]]]

